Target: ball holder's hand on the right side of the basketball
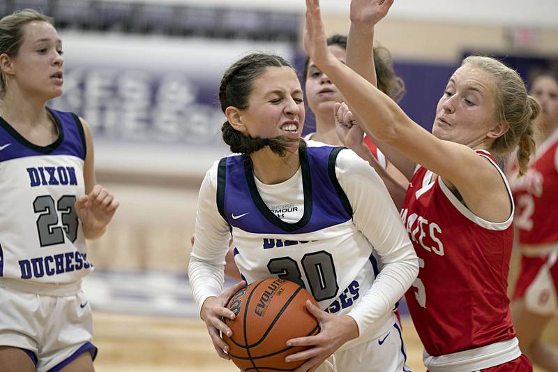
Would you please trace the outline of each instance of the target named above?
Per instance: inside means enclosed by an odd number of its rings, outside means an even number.
[[[315,336],[292,338],[287,341],[287,346],[313,346],[285,358],[285,362],[308,359],[294,372],[315,371],[341,345],[359,336],[359,327],[349,315],[336,316],[326,313],[310,301],[306,302],[306,308],[318,320],[320,332]]]

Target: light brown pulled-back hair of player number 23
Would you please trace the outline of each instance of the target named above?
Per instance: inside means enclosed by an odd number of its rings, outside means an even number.
[[[47,22],[54,26],[54,19],[37,10],[24,9],[0,19],[0,54],[17,56],[24,41],[23,27],[29,22]],[[0,98],[6,93],[6,78],[0,72]]]

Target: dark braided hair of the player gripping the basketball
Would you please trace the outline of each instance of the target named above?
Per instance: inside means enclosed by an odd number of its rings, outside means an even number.
[[[248,56],[232,64],[232,66],[225,71],[219,86],[221,110],[225,112],[229,106],[241,110],[248,107],[248,98],[252,92],[254,80],[264,74],[269,67],[293,68],[291,64],[282,57],[262,53],[248,54]],[[262,149],[262,147],[269,146],[271,151],[280,156],[285,156],[287,148],[292,146],[293,142],[299,142],[299,140],[293,140],[287,136],[272,138],[250,137],[236,131],[229,121],[223,123],[221,132],[223,133],[223,140],[229,145],[232,152],[247,155]]]

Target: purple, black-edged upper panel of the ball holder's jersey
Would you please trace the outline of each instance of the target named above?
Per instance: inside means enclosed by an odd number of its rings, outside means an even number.
[[[345,223],[352,216],[347,211],[345,193],[338,193],[330,178],[335,166],[330,154],[335,147],[299,148],[304,193],[304,214],[296,223],[286,223],[273,214],[257,191],[252,165],[244,155],[229,156],[218,174],[218,209],[236,228],[255,234],[304,234]],[[335,151],[334,157],[338,154]],[[342,191],[342,190],[341,190]]]

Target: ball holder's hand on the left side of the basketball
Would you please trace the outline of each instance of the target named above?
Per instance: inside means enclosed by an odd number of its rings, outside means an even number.
[[[211,336],[211,341],[213,341],[213,347],[217,351],[217,354],[223,359],[230,359],[227,355],[229,351],[229,346],[223,338],[221,338],[220,333],[226,334],[227,336],[232,336],[232,331],[225,322],[223,318],[228,318],[230,320],[234,319],[234,313],[227,308],[227,304],[232,296],[241,288],[246,286],[245,281],[239,281],[231,288],[223,291],[218,297],[208,297],[204,304],[202,305],[202,311],[200,316],[205,322],[209,336]]]

